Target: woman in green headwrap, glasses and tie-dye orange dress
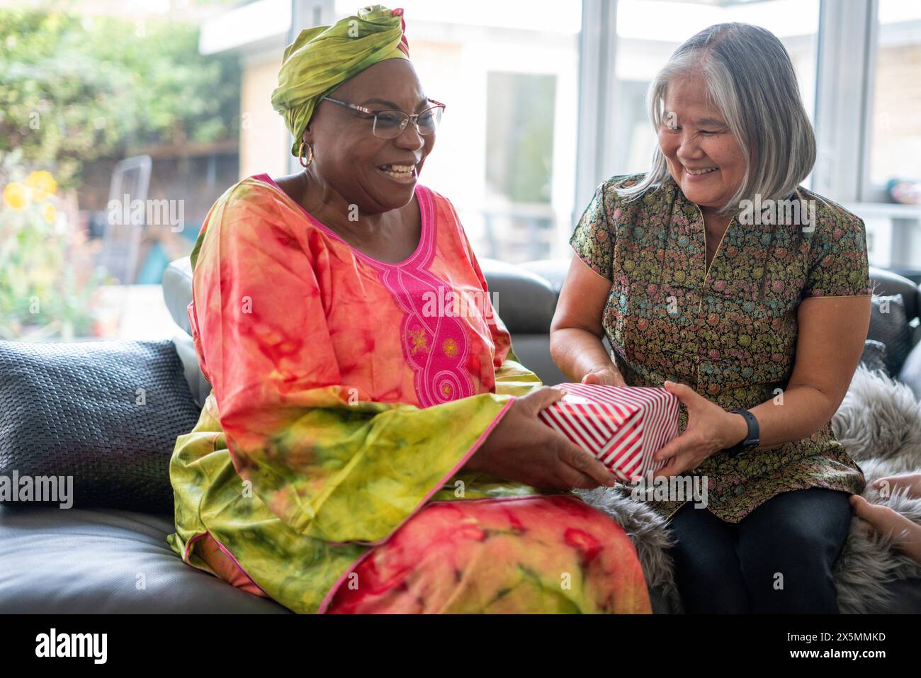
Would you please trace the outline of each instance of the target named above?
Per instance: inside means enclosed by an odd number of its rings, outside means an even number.
[[[648,613],[633,544],[571,491],[612,475],[536,418],[562,393],[417,183],[443,104],[408,52],[380,6],[286,49],[304,170],[228,189],[192,251],[213,392],[173,453],[169,544],[296,612]]]

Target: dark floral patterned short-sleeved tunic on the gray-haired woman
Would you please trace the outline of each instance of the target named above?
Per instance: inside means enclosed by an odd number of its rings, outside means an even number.
[[[727,410],[769,400],[782,406],[800,301],[871,293],[863,221],[799,187],[799,199],[814,201],[814,224],[746,225],[733,218],[707,270],[703,214],[671,178],[633,201],[615,193],[642,176],[602,183],[569,240],[612,283],[602,325],[624,380],[686,383]],[[686,425],[682,406],[680,429]],[[865,485],[831,422],[773,450],[738,459],[719,451],[688,473],[705,476],[707,508],[729,522],[781,492],[858,493]],[[684,504],[647,501],[666,518]]]

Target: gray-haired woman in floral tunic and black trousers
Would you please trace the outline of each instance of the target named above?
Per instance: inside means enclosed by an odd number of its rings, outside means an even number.
[[[769,31],[701,31],[648,104],[652,167],[602,183],[569,240],[554,361],[680,399],[682,433],[647,480],[670,479],[649,505],[677,538],[686,612],[836,613],[848,497],[865,485],[830,424],[869,325],[864,224],[799,185],[815,136]],[[705,492],[682,495],[692,478]]]

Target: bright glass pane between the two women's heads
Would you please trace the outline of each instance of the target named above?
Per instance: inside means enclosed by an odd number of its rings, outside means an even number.
[[[581,3],[400,5],[426,95],[448,107],[422,183],[454,204],[478,256],[568,256]],[[356,5],[335,9],[344,17]]]

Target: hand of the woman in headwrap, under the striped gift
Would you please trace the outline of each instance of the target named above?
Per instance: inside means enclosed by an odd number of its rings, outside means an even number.
[[[564,394],[544,386],[516,398],[464,469],[541,489],[591,489],[616,483],[604,464],[537,418]]]

